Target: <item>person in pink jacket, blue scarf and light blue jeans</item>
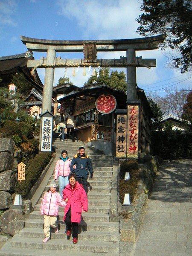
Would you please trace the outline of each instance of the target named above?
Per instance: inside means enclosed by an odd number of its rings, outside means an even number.
[[[68,157],[68,153],[66,150],[61,152],[61,157],[57,160],[55,165],[55,180],[59,181],[59,193],[61,197],[63,197],[62,191],[69,183],[68,176],[70,175],[70,164],[71,160]]]

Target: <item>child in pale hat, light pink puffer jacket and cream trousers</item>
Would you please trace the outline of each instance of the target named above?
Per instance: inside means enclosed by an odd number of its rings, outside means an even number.
[[[45,239],[43,243],[47,243],[50,240],[50,227],[55,229],[55,233],[58,233],[58,206],[66,206],[67,203],[61,198],[58,192],[56,192],[56,183],[52,181],[49,185],[49,191],[45,193],[41,201],[40,212],[44,215],[44,233]]]

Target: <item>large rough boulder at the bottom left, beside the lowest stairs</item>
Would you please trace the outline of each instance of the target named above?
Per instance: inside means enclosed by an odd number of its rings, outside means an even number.
[[[18,222],[19,220],[24,221],[24,215],[21,211],[14,211],[9,209],[3,213],[1,216],[1,228],[4,233],[14,236],[16,227],[20,228],[23,222]]]

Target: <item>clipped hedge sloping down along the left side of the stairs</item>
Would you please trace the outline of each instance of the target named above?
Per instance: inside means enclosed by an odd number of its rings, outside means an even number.
[[[51,157],[52,154],[50,152],[40,152],[30,160],[26,167],[26,179],[21,180],[21,182],[17,184],[15,192],[25,198],[41,176],[42,171],[49,163]]]

